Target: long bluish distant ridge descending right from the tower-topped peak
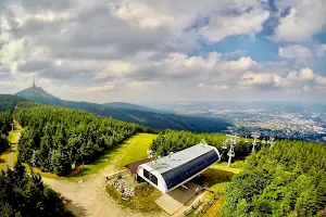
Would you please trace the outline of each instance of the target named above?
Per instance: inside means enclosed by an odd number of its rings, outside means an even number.
[[[46,92],[42,88],[36,86],[20,91],[15,94],[21,98],[47,105],[83,110],[101,116],[108,116],[114,119],[141,124],[143,126],[156,129],[170,128],[193,132],[221,132],[228,126],[230,126],[230,124],[224,119],[168,114],[130,103],[116,102],[97,104],[89,102],[61,100]]]

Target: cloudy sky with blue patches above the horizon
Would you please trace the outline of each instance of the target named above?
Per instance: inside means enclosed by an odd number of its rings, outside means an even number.
[[[0,0],[0,92],[324,101],[325,0]]]

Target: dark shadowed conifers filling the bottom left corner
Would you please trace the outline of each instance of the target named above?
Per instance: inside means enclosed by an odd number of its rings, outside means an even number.
[[[42,183],[41,177],[28,176],[21,163],[14,170],[0,173],[0,216],[72,216],[64,209],[60,196]]]

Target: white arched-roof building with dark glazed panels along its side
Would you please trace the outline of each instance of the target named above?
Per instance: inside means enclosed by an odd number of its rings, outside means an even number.
[[[221,155],[216,148],[200,143],[138,166],[136,180],[147,181],[167,193],[199,176]]]

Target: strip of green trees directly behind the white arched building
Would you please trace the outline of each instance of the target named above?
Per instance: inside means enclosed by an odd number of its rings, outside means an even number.
[[[222,148],[226,138],[226,135],[220,133],[193,133],[189,131],[164,130],[153,141],[150,149],[155,151],[156,155],[165,156],[170,152],[184,150],[204,140],[208,144],[217,148],[222,161],[226,161],[228,157],[228,149]],[[236,158],[248,156],[251,153],[251,139],[246,142],[244,138],[240,138],[240,141],[235,145]],[[258,143],[255,150],[260,150],[262,145],[262,143]]]

